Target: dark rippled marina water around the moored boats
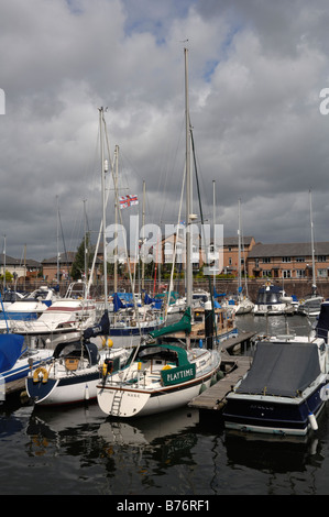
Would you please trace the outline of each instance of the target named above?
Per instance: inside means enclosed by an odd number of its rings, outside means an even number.
[[[307,320],[294,316],[298,334]],[[273,318],[273,332],[285,320]],[[256,326],[256,327],[254,327]],[[238,319],[240,329],[266,331],[264,318]],[[306,440],[229,435],[198,411],[116,421],[97,404],[39,410],[0,406],[2,495],[328,495],[329,408]],[[150,501],[151,501],[150,499]]]

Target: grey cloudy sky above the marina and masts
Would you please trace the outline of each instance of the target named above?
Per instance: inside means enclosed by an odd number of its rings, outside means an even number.
[[[311,189],[329,241],[328,26],[327,0],[1,0],[0,252],[6,235],[11,256],[54,256],[57,207],[61,251],[77,249],[84,211],[96,234],[100,107],[120,194],[142,199],[144,179],[146,221],[176,222],[184,46],[205,218],[215,180],[226,237],[241,199],[245,235],[307,242]]]

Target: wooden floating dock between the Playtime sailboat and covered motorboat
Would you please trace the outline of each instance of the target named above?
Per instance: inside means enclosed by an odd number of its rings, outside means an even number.
[[[248,355],[230,355],[229,352],[243,349],[250,343],[254,332],[242,332],[237,338],[230,338],[221,343],[222,348],[222,370],[226,373],[224,377],[210,386],[205,392],[200,393],[189,404],[189,407],[199,410],[211,410],[221,413],[224,404],[226,396],[230,393],[238,381],[243,377],[252,363],[252,356]]]

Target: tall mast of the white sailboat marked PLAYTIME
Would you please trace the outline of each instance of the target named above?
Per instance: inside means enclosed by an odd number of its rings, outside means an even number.
[[[186,129],[186,305],[191,307],[191,234],[190,234],[190,215],[191,215],[191,177],[190,177],[190,123],[189,123],[189,102],[188,102],[188,50],[184,48],[185,55],[185,129]]]

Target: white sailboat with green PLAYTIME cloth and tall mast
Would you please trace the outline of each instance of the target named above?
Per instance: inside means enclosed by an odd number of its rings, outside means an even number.
[[[190,121],[187,88],[187,48],[185,53],[186,116],[186,210],[191,218],[191,178],[189,167]],[[186,333],[184,346],[161,340],[141,340],[127,366],[118,373],[106,371],[97,386],[100,409],[114,417],[131,418],[182,407],[217,381],[221,356],[216,348],[191,348],[189,332],[193,295],[190,233],[186,232],[187,309],[178,322]]]

